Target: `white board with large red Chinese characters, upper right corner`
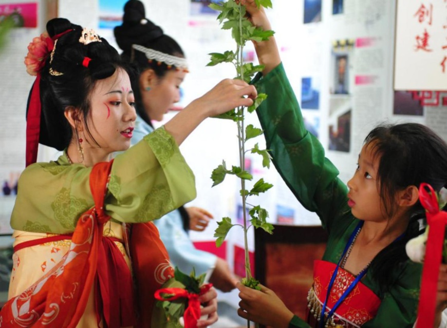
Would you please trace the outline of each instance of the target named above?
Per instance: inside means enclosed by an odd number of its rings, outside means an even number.
[[[398,0],[395,90],[447,90],[447,2]]]

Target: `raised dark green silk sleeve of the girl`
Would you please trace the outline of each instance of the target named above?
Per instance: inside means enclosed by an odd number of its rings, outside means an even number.
[[[316,212],[325,228],[346,213],[347,187],[339,171],[325,157],[324,148],[304,125],[295,94],[280,64],[255,82],[267,99],[257,114],[273,164],[300,203]]]

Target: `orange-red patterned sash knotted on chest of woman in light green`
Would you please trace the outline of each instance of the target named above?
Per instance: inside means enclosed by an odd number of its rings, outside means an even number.
[[[101,285],[100,293],[108,296],[110,291],[107,287],[111,281],[107,279],[110,278],[108,273],[113,265],[108,262],[107,268],[102,268],[103,271],[107,271],[105,279],[98,277],[97,268],[98,260],[102,258],[103,261],[104,254],[114,253],[113,245],[110,245],[112,242],[104,240],[104,243],[102,238],[104,223],[110,219],[104,213],[103,204],[111,164],[112,162],[98,163],[91,170],[89,182],[95,207],[79,218],[67,254],[50,272],[3,306],[0,312],[0,322],[3,325],[8,327],[76,327],[85,311],[95,279],[98,279]],[[124,261],[118,258],[118,264],[122,263],[121,260]],[[117,271],[123,272],[122,268],[118,268]],[[128,268],[127,271],[130,277]],[[104,299],[102,295],[102,300]],[[130,291],[126,291],[124,299],[121,297],[118,302],[123,300],[130,302],[130,305],[129,303],[125,305],[132,307],[132,287]],[[110,302],[113,303],[114,300]],[[109,304],[102,302],[101,305]],[[110,309],[113,308],[109,306],[107,310],[104,309],[105,314],[112,312]],[[121,313],[123,308],[119,308],[118,311],[118,322],[114,322],[116,313],[112,313],[105,316],[105,323],[110,324],[109,326],[119,326],[120,323],[132,324],[133,318],[129,318],[128,313],[123,319]]]

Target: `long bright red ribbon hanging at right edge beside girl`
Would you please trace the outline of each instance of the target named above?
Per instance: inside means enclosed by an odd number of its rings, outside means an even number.
[[[435,320],[436,293],[447,213],[439,210],[436,193],[432,186],[427,183],[421,183],[419,187],[419,200],[425,208],[427,224],[429,225],[416,323],[416,328],[424,328],[433,327]]]

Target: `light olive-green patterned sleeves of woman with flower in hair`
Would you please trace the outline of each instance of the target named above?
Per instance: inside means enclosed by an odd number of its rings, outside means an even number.
[[[79,216],[94,206],[91,168],[57,162],[28,166],[20,177],[11,216],[13,229],[71,233]],[[106,213],[119,222],[147,222],[196,197],[194,174],[164,128],[118,155],[111,168]]]

